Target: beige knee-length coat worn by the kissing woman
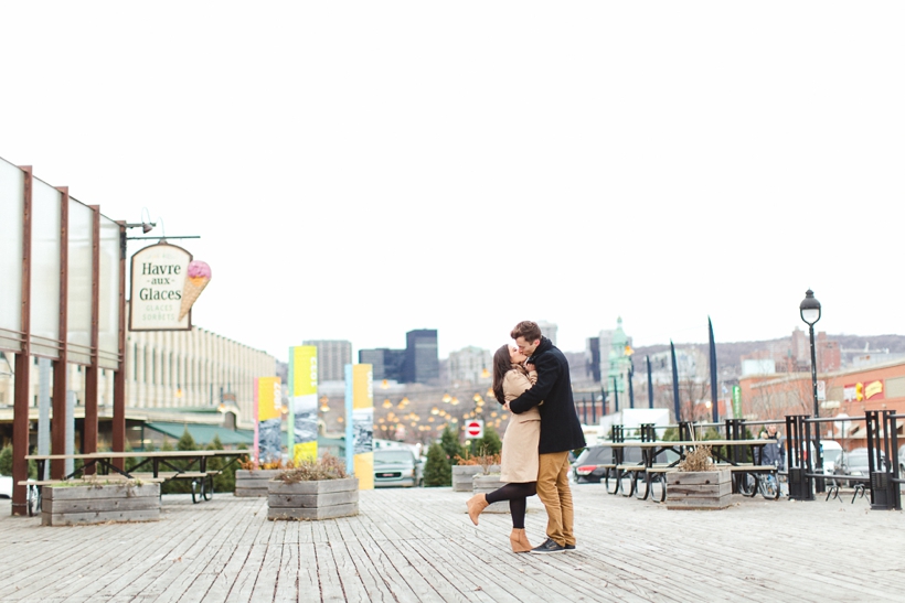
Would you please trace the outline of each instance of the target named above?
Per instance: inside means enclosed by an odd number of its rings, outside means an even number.
[[[503,377],[505,401],[514,400],[537,380],[537,373],[528,375],[513,368]],[[541,440],[541,412],[535,406],[521,414],[509,416],[503,435],[500,481],[512,483],[537,481],[537,443]]]

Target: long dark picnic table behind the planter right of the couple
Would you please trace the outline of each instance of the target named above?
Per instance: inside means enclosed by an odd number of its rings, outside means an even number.
[[[699,445],[712,446],[711,451],[716,461],[716,469],[728,469],[734,475],[739,478],[734,480],[734,488],[736,492],[745,496],[754,496],[757,494],[756,476],[773,475],[776,476],[777,467],[774,465],[756,465],[754,463],[741,462],[735,460],[735,454],[724,455],[718,449],[722,446],[730,448],[746,448],[752,452],[758,448],[769,443],[768,440],[656,440],[656,441],[640,441],[640,440],[625,440],[621,442],[606,442],[613,449],[613,463],[605,464],[607,469],[606,474],[606,489],[608,494],[618,494],[622,491],[624,496],[636,496],[637,498],[647,499],[651,495],[651,484],[660,482],[660,499],[654,502],[662,503],[667,498],[666,473],[679,471],[679,462],[684,457],[689,449]],[[641,450],[640,462],[625,462],[625,449],[638,448]],[[678,457],[672,462],[657,462],[657,460],[667,452],[673,452]],[[752,455],[754,457],[754,454]],[[610,475],[614,477],[614,486],[610,489]],[[629,492],[625,493],[622,487],[622,478],[629,477]],[[643,494],[641,494],[639,482],[645,485]],[[763,489],[762,489],[763,493]],[[778,496],[778,488],[776,489]],[[766,496],[766,494],[765,494]],[[651,499],[653,499],[651,497]]]

